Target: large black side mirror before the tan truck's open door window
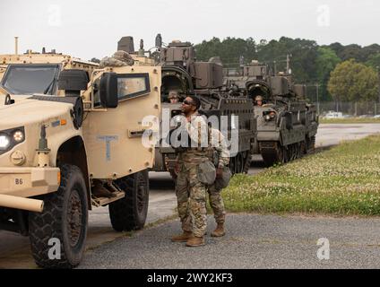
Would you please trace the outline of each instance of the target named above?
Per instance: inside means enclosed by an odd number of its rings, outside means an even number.
[[[99,97],[104,108],[117,108],[117,74],[104,73],[100,78]]]

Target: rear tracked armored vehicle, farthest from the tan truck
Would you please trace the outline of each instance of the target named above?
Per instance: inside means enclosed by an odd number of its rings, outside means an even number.
[[[225,74],[224,85],[255,103],[257,149],[267,166],[295,160],[315,147],[318,117],[305,100],[306,86],[293,84],[290,74],[272,74],[268,65],[252,61],[235,74]]]

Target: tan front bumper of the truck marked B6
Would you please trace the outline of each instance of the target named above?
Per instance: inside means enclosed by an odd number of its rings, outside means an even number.
[[[0,168],[0,207],[41,212],[43,202],[27,197],[55,192],[58,168]]]

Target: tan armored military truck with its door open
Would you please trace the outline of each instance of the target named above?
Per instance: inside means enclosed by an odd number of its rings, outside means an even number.
[[[1,55],[0,80],[0,230],[29,235],[39,266],[71,268],[92,206],[108,205],[117,231],[141,229],[154,160],[142,119],[159,117],[160,67],[29,51]]]

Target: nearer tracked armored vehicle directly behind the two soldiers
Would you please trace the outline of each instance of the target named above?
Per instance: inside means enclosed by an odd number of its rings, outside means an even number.
[[[132,40],[131,37],[121,39],[118,49],[134,54]],[[181,113],[180,102],[185,100],[186,95],[196,95],[202,102],[200,113],[208,118],[212,116],[214,119],[217,118],[219,125],[213,126],[217,128],[220,128],[223,117],[227,124],[226,134],[229,142],[231,137],[237,140],[235,146],[230,149],[231,172],[246,172],[256,143],[253,100],[233,97],[228,92],[222,91],[222,65],[218,61],[197,61],[194,46],[189,42],[173,41],[168,47],[162,48],[159,34],[156,38],[156,48],[157,51],[151,54],[151,57],[155,58],[157,65],[161,67],[161,122],[164,122],[164,117],[170,119]],[[143,55],[142,47],[139,54]],[[179,95],[180,100],[177,103],[170,103],[168,100],[170,91],[176,91]],[[170,126],[170,129],[176,127]],[[169,145],[162,144],[168,141],[167,138],[167,135],[161,135],[160,143],[157,144],[153,170],[169,171],[175,178],[175,150]]]

